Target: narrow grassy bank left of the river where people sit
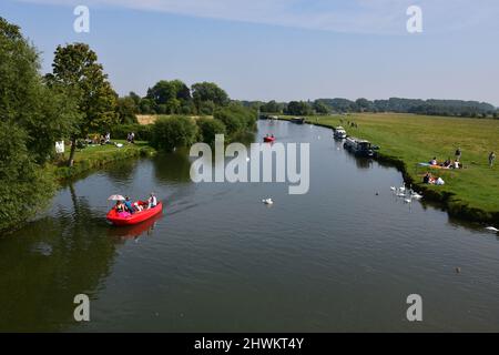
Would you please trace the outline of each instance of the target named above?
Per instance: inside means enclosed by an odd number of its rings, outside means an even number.
[[[71,168],[64,166],[63,164],[69,156],[69,152],[67,151],[63,160],[61,159],[59,164],[52,166],[55,180],[63,181],[78,176],[89,170],[99,169],[114,161],[147,156],[154,154],[155,152],[154,149],[149,146],[147,142],[138,141],[135,144],[129,144],[125,141],[115,142],[122,143],[123,146],[116,148],[113,144],[89,145],[84,149],[77,150],[74,155],[74,164]]]

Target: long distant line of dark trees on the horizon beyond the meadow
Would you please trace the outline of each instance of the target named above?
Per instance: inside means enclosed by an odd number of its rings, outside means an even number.
[[[390,98],[388,100],[317,99],[315,101],[268,102],[245,101],[261,112],[293,115],[348,113],[348,112],[397,112],[427,115],[499,118],[499,109],[487,102],[464,100],[419,100]]]

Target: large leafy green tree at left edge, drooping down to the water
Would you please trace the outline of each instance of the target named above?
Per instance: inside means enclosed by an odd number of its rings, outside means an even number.
[[[75,104],[48,88],[37,50],[0,18],[0,232],[40,211],[53,192],[44,162],[78,119]]]

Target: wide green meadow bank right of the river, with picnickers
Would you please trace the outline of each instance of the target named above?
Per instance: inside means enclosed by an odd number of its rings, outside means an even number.
[[[487,160],[490,151],[499,152],[499,120],[358,113],[307,116],[306,122],[325,128],[343,125],[348,135],[379,145],[378,159],[397,166],[407,184],[421,191],[427,201],[441,204],[449,215],[471,222],[499,223],[499,168],[490,168]],[[348,126],[348,122],[355,122],[357,128]],[[431,170],[446,184],[422,184],[427,169],[418,163],[434,156],[438,161],[454,159],[457,148],[462,150],[464,169]]]

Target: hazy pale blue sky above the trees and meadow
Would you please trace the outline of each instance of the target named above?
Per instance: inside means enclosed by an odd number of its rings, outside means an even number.
[[[73,9],[90,9],[75,33]],[[422,9],[424,32],[406,31]],[[50,71],[88,42],[120,94],[160,79],[214,81],[233,99],[389,97],[499,105],[497,0],[2,0]]]

